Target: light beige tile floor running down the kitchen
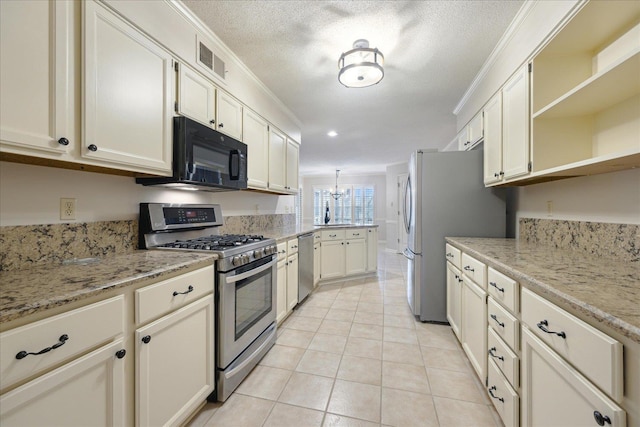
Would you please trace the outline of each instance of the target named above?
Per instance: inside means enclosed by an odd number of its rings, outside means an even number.
[[[451,328],[411,315],[405,268],[381,251],[376,277],[319,286],[190,426],[501,426]]]

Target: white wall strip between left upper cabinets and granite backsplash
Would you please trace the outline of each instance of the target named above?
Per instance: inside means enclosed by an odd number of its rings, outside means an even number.
[[[293,213],[293,196],[143,187],[134,178],[0,162],[0,226],[56,224],[60,198],[77,199],[76,220],[138,218],[140,202],[219,203],[225,216]]]

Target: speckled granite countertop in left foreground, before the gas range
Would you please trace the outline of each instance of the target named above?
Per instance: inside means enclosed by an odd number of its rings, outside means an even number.
[[[0,323],[101,292],[213,264],[216,255],[178,251],[135,251],[97,262],[42,265],[0,272]]]

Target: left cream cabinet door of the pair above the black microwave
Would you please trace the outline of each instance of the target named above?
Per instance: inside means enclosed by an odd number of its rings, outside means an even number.
[[[186,65],[178,66],[178,113],[214,127],[216,87]]]

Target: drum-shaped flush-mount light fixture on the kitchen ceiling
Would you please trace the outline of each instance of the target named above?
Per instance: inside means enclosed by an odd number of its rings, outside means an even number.
[[[353,49],[340,55],[338,80],[346,87],[367,87],[384,77],[384,55],[369,47],[365,39],[353,42]]]

